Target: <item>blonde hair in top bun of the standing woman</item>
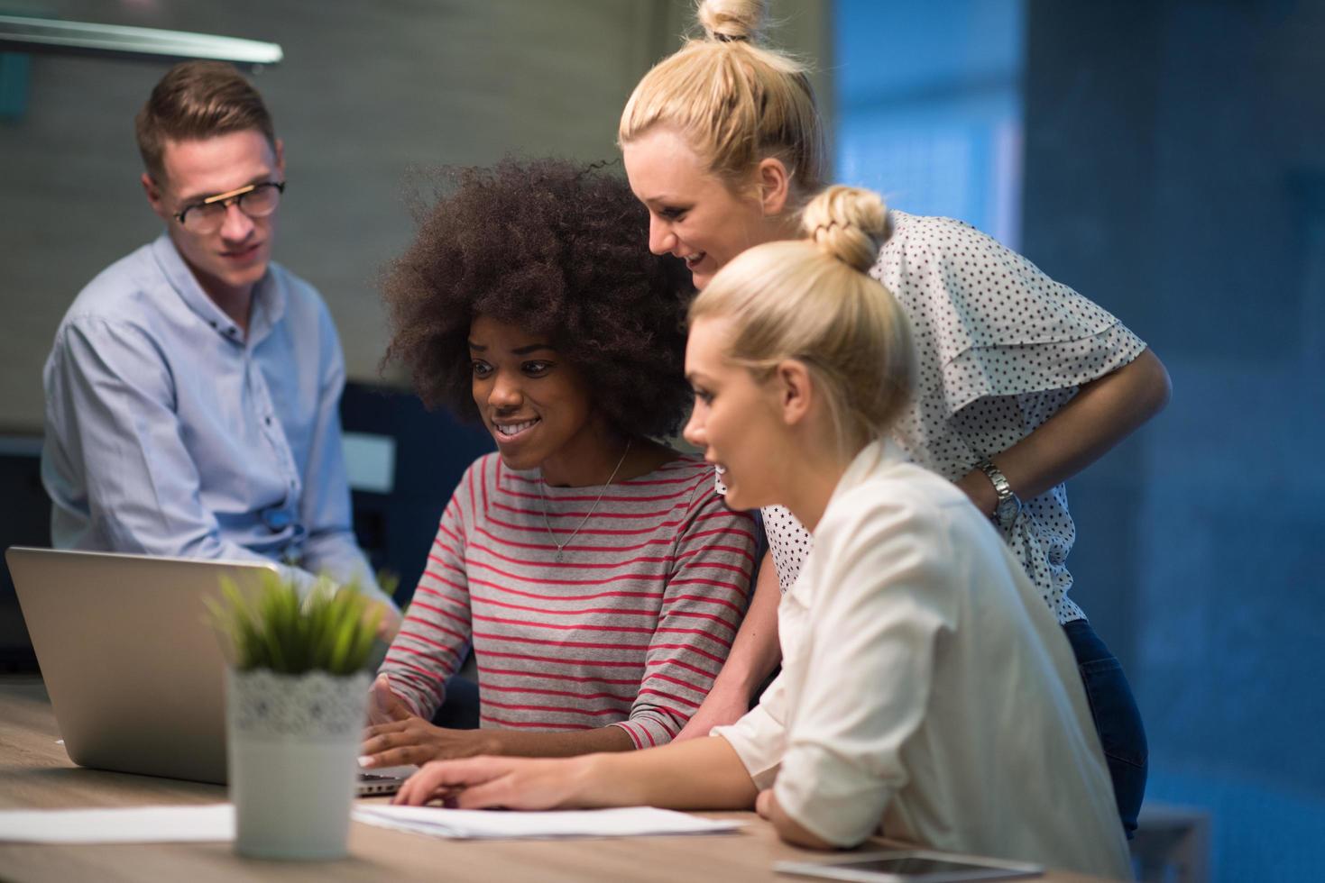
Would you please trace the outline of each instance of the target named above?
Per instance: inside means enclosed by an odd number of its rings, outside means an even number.
[[[705,38],[690,40],[644,75],[621,113],[617,142],[674,126],[731,189],[759,160],[791,173],[794,204],[824,184],[824,140],[803,64],[755,45],[766,0],[701,0]]]

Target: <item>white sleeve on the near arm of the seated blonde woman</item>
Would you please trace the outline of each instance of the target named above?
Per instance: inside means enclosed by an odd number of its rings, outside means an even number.
[[[852,846],[880,823],[908,782],[902,745],[921,728],[934,647],[955,625],[943,549],[921,543],[924,511],[873,504],[856,530],[822,524],[815,601],[796,708],[775,794],[783,810],[824,841]],[[864,526],[864,530],[860,530]]]

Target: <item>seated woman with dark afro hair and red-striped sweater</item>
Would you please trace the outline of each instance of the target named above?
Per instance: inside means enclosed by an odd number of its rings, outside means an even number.
[[[363,763],[668,743],[727,657],[754,565],[753,520],[712,466],[657,441],[689,397],[689,274],[649,254],[647,213],[598,167],[447,177],[383,283],[387,359],[497,453],[441,516]],[[470,642],[480,728],[433,725]]]

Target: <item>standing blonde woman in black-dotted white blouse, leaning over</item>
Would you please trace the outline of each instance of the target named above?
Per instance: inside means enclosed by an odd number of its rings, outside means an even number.
[[[825,184],[810,81],[757,45],[763,0],[705,0],[706,37],[659,62],[621,115],[631,189],[649,209],[649,248],[685,259],[704,289],[743,250],[796,238],[799,209]],[[1161,361],[1113,315],[974,228],[888,213],[872,275],[914,330],[916,398],[894,440],[994,519],[1076,654],[1129,837],[1145,793],[1146,740],[1117,659],[1068,597],[1076,536],[1064,482],[1169,398]],[[758,440],[751,438],[751,443]],[[794,463],[787,463],[794,469]],[[811,539],[763,510],[770,555],[750,612],[681,739],[727,724],[779,659],[779,590]]]

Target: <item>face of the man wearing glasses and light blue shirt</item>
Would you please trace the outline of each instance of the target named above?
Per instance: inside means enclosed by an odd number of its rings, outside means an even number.
[[[208,196],[248,184],[284,181],[281,143],[276,148],[256,128],[197,140],[167,142],[162,154],[163,180],[143,175],[147,200],[167,224],[203,290],[221,301],[246,297],[266,273],[276,234],[276,213],[249,217],[237,204],[225,209],[225,221],[212,233],[189,233],[175,214]]]

